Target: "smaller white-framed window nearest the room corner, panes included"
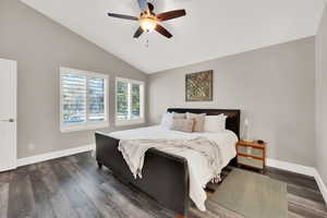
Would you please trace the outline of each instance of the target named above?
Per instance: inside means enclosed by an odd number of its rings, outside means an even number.
[[[144,123],[144,82],[116,78],[116,124]]]

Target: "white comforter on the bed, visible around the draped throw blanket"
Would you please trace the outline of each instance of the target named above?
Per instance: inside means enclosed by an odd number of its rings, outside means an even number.
[[[109,136],[118,140],[193,140],[204,136],[214,141],[219,146],[222,157],[222,167],[226,167],[237,155],[235,143],[238,142],[238,137],[233,132],[228,130],[219,133],[183,133],[166,130],[160,125],[156,125],[112,132]],[[165,149],[165,152],[186,158],[190,173],[190,198],[194,202],[198,209],[206,210],[205,201],[207,196],[204,187],[215,177],[215,172],[208,167],[207,159],[196,150],[192,149],[170,147]]]

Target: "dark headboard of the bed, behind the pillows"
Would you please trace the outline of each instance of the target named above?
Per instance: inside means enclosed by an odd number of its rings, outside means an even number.
[[[226,129],[234,132],[240,138],[240,121],[241,110],[233,109],[192,109],[192,108],[168,108],[168,112],[192,112],[192,113],[206,113],[207,116],[218,116],[223,113],[227,116]]]

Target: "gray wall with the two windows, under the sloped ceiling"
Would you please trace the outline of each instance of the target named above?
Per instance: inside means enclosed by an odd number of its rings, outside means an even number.
[[[60,65],[110,75],[111,128],[107,131],[118,130],[113,123],[114,76],[147,80],[144,73],[17,0],[0,1],[0,57],[19,62],[19,158],[94,143],[92,131],[59,131]]]

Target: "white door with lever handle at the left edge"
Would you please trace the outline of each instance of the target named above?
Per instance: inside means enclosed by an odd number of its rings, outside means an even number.
[[[0,172],[16,168],[17,63],[0,59]]]

